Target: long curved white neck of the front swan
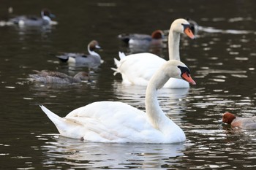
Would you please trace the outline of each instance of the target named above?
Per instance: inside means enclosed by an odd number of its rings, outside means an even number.
[[[146,89],[146,114],[151,125],[160,131],[166,124],[165,122],[170,119],[165,116],[165,113],[162,112],[162,109],[159,106],[159,102],[157,101],[157,90],[162,88],[169,78],[170,77],[167,77],[162,71],[158,71],[148,82],[148,87]]]

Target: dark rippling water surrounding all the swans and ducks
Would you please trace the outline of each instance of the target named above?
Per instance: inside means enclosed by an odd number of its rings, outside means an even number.
[[[15,14],[36,14],[48,7],[59,22],[52,28],[0,27],[0,169],[255,169],[256,132],[233,130],[222,113],[255,115],[256,1],[1,1]],[[185,132],[184,144],[86,143],[58,135],[39,104],[65,116],[94,101],[124,101],[142,110],[145,88],[122,85],[110,69],[118,51],[130,50],[121,33],[168,30],[176,18],[201,26],[196,40],[181,38],[181,61],[197,85],[162,89],[162,109]],[[38,85],[32,70],[74,75],[83,67],[59,63],[57,52],[86,52],[91,39],[105,61],[93,82]],[[167,49],[160,51],[167,59]]]

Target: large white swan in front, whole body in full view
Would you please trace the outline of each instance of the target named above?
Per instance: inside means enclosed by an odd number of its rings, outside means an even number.
[[[170,77],[195,85],[181,61],[167,61],[154,74],[146,90],[146,113],[118,101],[97,101],[59,117],[47,108],[42,111],[62,136],[89,142],[176,143],[186,139],[181,128],[168,118],[157,101],[157,90]]]

